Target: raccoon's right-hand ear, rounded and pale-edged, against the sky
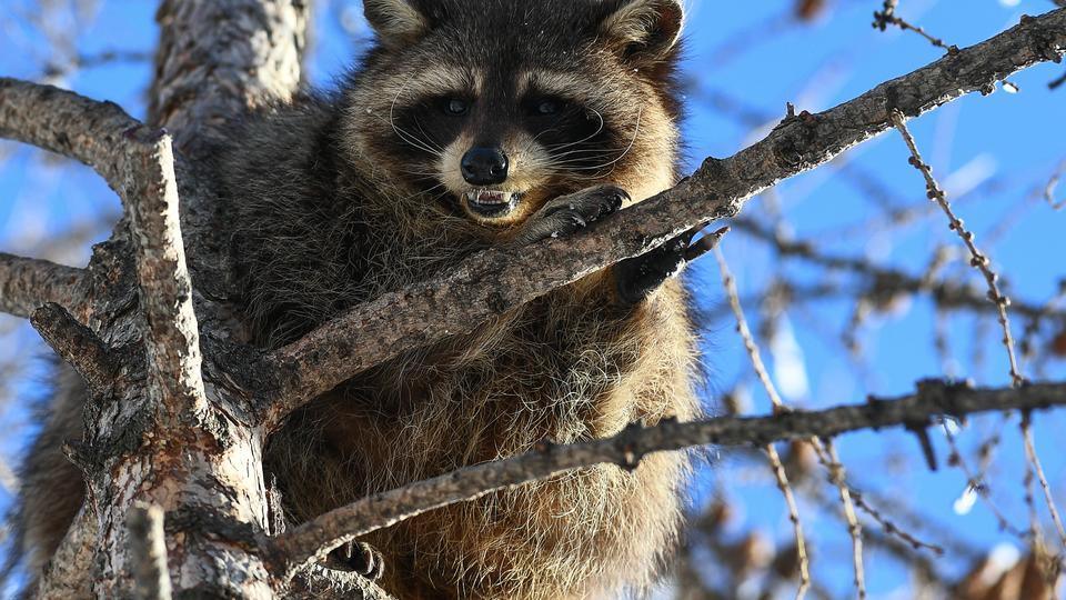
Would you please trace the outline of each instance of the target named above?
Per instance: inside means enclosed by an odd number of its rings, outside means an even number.
[[[685,11],[678,0],[615,0],[600,33],[635,64],[670,59],[681,39]]]

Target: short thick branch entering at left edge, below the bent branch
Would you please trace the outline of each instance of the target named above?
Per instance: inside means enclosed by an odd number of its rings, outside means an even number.
[[[86,272],[0,252],[0,312],[29,317],[48,302],[71,306]]]

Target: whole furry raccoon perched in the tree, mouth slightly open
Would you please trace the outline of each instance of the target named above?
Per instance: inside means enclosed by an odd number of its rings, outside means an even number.
[[[677,0],[364,0],[364,12],[376,43],[339,91],[251,116],[215,157],[255,343],[278,348],[479,249],[570,234],[676,181]],[[668,277],[684,250],[593,273],[313,400],[264,453],[288,518],[545,439],[695,418],[693,326]],[[350,562],[402,599],[640,592],[675,540],[686,469],[660,453],[633,471],[576,470],[378,531]]]

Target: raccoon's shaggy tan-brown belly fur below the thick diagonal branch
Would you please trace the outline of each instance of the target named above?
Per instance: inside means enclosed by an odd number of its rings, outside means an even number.
[[[557,290],[319,398],[268,468],[296,520],[469,464],[695,416],[677,282],[638,307],[604,274]],[[399,598],[585,598],[651,577],[674,536],[678,456],[648,457],[433,511],[371,536]]]

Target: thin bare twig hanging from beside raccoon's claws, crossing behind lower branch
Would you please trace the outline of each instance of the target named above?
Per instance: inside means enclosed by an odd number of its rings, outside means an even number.
[[[774,406],[774,413],[781,413],[786,410],[784,402],[782,402],[781,394],[777,393],[777,388],[766,371],[766,366],[763,364],[763,359],[758,352],[758,344],[755,343],[752,330],[747,327],[747,319],[744,318],[744,309],[741,308],[741,300],[736,292],[736,280],[733,278],[733,273],[730,272],[730,266],[725,261],[725,254],[722,253],[721,248],[714,249],[714,258],[717,259],[718,271],[722,273],[722,287],[725,288],[725,293],[730,299],[730,306],[733,307],[733,316],[736,318],[736,331],[741,334],[741,339],[744,340],[744,349],[747,350],[747,357],[755,368],[755,374],[763,383],[763,388],[766,390],[766,394]],[[792,486],[788,483],[788,476],[785,473],[785,468],[781,464],[781,457],[777,454],[777,449],[773,443],[768,443],[764,450],[766,451],[766,457],[770,459],[770,467],[774,471],[777,489],[781,490],[781,494],[785,498],[785,506],[788,508],[788,520],[792,521],[793,533],[796,538],[796,558],[800,562],[800,588],[796,590],[796,600],[803,600],[803,597],[807,593],[807,589],[811,587],[811,560],[807,557],[807,541],[803,534],[803,522],[800,521],[800,508],[796,506],[795,492],[793,492]]]

